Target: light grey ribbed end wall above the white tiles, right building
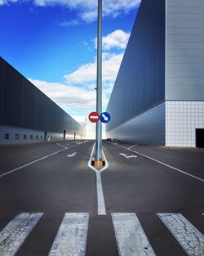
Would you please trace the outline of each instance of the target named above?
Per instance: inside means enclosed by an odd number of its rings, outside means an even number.
[[[204,100],[203,0],[166,0],[166,100]]]

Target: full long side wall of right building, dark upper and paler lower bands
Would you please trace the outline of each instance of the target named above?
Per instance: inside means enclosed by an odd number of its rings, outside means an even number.
[[[107,111],[107,137],[165,144],[165,0],[143,0]]]

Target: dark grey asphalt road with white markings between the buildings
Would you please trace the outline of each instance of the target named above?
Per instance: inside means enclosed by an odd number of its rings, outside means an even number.
[[[1,256],[203,256],[204,150],[0,146]]]

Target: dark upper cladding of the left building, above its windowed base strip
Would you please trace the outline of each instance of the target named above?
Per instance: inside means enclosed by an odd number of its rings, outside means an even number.
[[[45,132],[82,133],[64,110],[0,57],[0,124]]]

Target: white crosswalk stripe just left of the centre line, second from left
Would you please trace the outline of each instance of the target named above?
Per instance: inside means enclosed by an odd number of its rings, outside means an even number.
[[[65,213],[49,256],[85,256],[89,213]]]

